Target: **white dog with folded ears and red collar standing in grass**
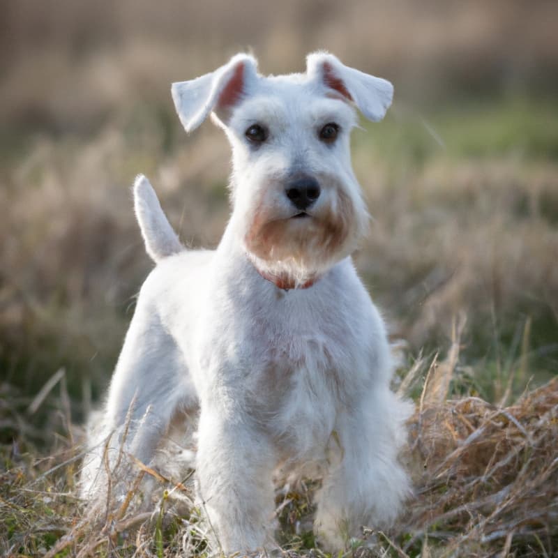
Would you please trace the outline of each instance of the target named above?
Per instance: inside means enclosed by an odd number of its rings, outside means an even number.
[[[199,497],[227,553],[273,545],[273,475],[317,467],[315,531],[331,548],[393,522],[410,404],[390,391],[382,318],[351,253],[368,213],[350,160],[356,106],[382,119],[389,82],[310,54],[264,77],[239,54],[175,83],[186,131],[211,112],[232,144],[233,210],[216,250],[185,250],[144,176],[135,207],[157,262],[144,283],[93,445],[116,432],[149,463],[176,416],[199,409]],[[111,445],[112,444],[112,445]],[[82,475],[102,482],[97,451]]]

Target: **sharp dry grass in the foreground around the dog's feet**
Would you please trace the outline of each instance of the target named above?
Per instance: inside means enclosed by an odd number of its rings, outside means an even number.
[[[508,407],[472,396],[446,400],[459,361],[455,335],[447,358],[430,364],[409,421],[404,457],[416,496],[392,533],[363,529],[363,540],[353,541],[347,556],[550,557],[558,552],[558,379]],[[401,392],[421,382],[425,365],[425,359],[416,362]],[[33,457],[33,445],[23,435],[9,453],[4,448],[3,555],[204,555],[205,529],[210,527],[199,521],[199,510],[193,507],[191,472],[171,481],[136,462],[135,481],[123,502],[114,502],[109,490],[106,506],[93,513],[83,510],[75,498],[80,431],[68,422],[65,390],[61,384],[59,397],[51,394],[49,400],[57,416],[53,420],[66,432],[50,457]],[[27,423],[23,409],[28,401],[13,392],[4,395],[10,395],[12,420]],[[31,402],[27,413],[42,402]],[[116,466],[114,482],[118,474]],[[144,477],[151,478],[148,501],[138,492]],[[280,540],[291,557],[314,548],[309,529],[316,487],[301,483],[278,489]],[[315,548],[308,555],[322,552]]]

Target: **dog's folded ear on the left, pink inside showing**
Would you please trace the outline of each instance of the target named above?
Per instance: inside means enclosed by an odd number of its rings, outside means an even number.
[[[211,111],[226,121],[256,79],[256,59],[250,54],[236,54],[214,72],[173,83],[172,99],[186,132],[195,130]]]

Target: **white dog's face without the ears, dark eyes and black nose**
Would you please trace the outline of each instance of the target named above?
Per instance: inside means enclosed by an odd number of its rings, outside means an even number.
[[[304,283],[348,255],[365,230],[349,153],[356,114],[315,83],[262,80],[225,126],[236,223],[260,269]]]

